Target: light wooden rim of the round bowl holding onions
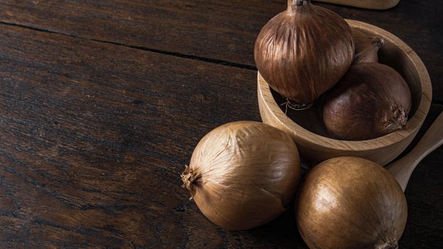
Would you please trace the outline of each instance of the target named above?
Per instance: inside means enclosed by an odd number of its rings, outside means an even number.
[[[364,151],[368,149],[380,149],[382,147],[388,147],[392,144],[396,144],[400,142],[402,139],[410,136],[410,134],[414,134],[414,132],[421,127],[424,119],[427,116],[427,112],[429,111],[429,107],[431,105],[432,100],[432,85],[431,80],[429,78],[429,73],[427,72],[426,67],[424,66],[422,60],[419,58],[417,53],[407,46],[405,42],[400,40],[397,36],[394,36],[392,33],[385,31],[382,28],[378,28],[377,26],[373,26],[369,23],[364,23],[362,21],[355,21],[351,19],[345,19],[348,22],[351,28],[361,28],[363,30],[370,31],[371,33],[375,33],[385,41],[390,41],[395,44],[398,48],[400,48],[407,58],[412,62],[412,65],[415,66],[415,70],[418,73],[419,81],[422,87],[422,96],[420,98],[419,106],[415,111],[415,114],[408,121],[408,126],[406,129],[400,129],[390,134],[386,134],[382,137],[377,137],[375,139],[361,140],[361,141],[346,141],[333,139],[329,137],[323,137],[319,134],[308,131],[307,129],[301,127],[300,125],[293,122],[286,114],[280,109],[276,100],[273,98],[271,90],[269,88],[268,83],[261,77],[260,73],[257,72],[257,81],[259,88],[259,97],[263,100],[265,108],[268,109],[269,113],[273,116],[274,120],[277,120],[280,124],[283,125],[286,129],[292,131],[296,138],[303,139],[306,142],[311,142],[320,147],[328,147],[330,149],[338,149],[338,150],[349,150],[353,151]]]

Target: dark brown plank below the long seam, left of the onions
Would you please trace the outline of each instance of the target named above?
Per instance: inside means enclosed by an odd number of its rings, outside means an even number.
[[[303,245],[221,230],[181,187],[206,132],[259,120],[254,71],[5,25],[0,55],[0,248]]]

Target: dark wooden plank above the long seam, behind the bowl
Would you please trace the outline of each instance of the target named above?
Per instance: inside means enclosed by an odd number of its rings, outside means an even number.
[[[254,42],[261,27],[286,9],[286,0],[85,1],[0,0],[0,21],[189,55],[236,66],[254,66]],[[400,1],[387,11],[321,4],[343,18],[379,26],[405,41],[443,81],[443,1]],[[443,102],[436,84],[435,102]]]

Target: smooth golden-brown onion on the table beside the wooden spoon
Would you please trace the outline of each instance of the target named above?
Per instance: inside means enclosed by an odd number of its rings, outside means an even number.
[[[358,157],[315,166],[299,186],[295,211],[309,248],[398,248],[407,220],[406,198],[394,177]]]

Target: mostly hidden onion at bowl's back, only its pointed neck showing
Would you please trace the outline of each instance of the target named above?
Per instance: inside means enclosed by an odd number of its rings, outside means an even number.
[[[355,55],[353,64],[357,63],[377,63],[378,50],[385,43],[380,36],[370,35],[358,28],[353,29],[355,43]]]

